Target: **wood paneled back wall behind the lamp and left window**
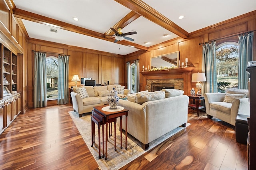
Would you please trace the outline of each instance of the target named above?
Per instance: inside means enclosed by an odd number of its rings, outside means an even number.
[[[51,53],[70,55],[69,57],[69,87],[74,86],[71,81],[73,75],[79,78],[91,77],[98,84],[104,84],[109,81],[110,84],[125,85],[124,82],[124,56],[102,51],[90,50],[80,47],[71,47],[70,45],[46,42],[42,40],[28,40],[28,107],[33,107],[33,73],[34,73],[34,52],[44,51],[46,56],[55,56]],[[80,82],[77,82],[80,85]],[[56,101],[54,101],[56,103]],[[53,103],[53,104],[54,104]],[[51,105],[51,103],[49,103]],[[48,103],[47,103],[48,105]]]

